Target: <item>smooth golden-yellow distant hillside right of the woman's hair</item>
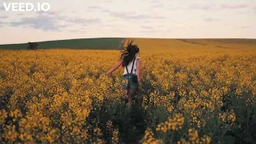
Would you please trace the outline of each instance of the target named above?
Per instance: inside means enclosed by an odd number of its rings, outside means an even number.
[[[168,39],[133,38],[141,50],[251,50],[256,48],[256,39]],[[130,38],[126,39],[126,43]]]

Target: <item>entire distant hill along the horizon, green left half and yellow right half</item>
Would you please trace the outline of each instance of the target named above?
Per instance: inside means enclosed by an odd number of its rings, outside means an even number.
[[[78,50],[119,50],[122,42],[131,38],[82,38],[38,42],[39,49],[78,49]],[[170,39],[170,38],[132,38],[141,50],[250,50],[255,49],[256,39]],[[26,50],[28,44],[0,45],[0,49]]]

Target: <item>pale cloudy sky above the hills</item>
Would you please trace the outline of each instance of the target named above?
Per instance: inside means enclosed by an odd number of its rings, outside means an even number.
[[[256,0],[0,0],[0,44],[73,38],[256,38]]]

